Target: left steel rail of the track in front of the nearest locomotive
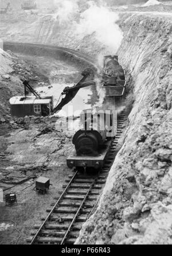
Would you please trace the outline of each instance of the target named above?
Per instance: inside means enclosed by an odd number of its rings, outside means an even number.
[[[75,174],[73,175],[71,181],[69,181],[67,187],[64,189],[64,192],[62,192],[61,196],[59,197],[59,199],[57,200],[56,204],[54,205],[54,207],[52,208],[52,210],[49,212],[48,216],[46,217],[46,219],[44,220],[44,222],[42,223],[41,227],[38,229],[38,231],[36,232],[36,235],[34,235],[32,241],[30,242],[30,245],[33,245],[33,243],[36,241],[37,236],[40,234],[40,231],[42,230],[42,228],[44,227],[45,223],[49,220],[50,216],[52,215],[54,209],[57,207],[58,203],[60,202],[60,200],[62,199],[62,197],[64,196],[64,194],[67,192],[69,186],[71,185],[71,183],[73,182],[73,180],[75,179],[76,175],[77,175],[78,171],[75,172]]]

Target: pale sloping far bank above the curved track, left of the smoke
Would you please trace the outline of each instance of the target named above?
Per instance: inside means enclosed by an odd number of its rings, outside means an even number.
[[[13,13],[0,16],[1,40],[62,46],[97,56],[106,47],[97,41],[95,33],[86,36],[76,33],[79,18],[80,13],[75,14],[72,22],[60,23],[56,14]]]

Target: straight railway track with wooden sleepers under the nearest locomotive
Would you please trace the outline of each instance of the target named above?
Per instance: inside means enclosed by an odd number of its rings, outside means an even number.
[[[30,238],[31,245],[73,244],[83,223],[95,210],[97,200],[104,187],[108,172],[114,162],[118,139],[126,118],[124,112],[118,118],[117,133],[112,139],[110,152],[104,168],[95,175],[82,174],[76,170],[69,175],[63,185],[64,191],[56,198],[56,203],[47,209],[48,216],[42,218],[41,226],[34,226]]]

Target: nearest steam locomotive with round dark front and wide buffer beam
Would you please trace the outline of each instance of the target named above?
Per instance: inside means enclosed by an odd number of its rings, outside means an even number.
[[[75,149],[67,158],[69,168],[100,169],[114,137],[116,119],[113,111],[94,113],[84,111],[80,117],[80,129],[73,136]]]

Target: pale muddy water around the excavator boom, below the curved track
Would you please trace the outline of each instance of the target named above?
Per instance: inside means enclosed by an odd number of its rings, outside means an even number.
[[[40,69],[39,71],[42,73],[42,75],[46,75],[47,77],[50,76],[56,76],[56,75],[63,75],[68,73],[76,73],[79,72],[76,67],[72,67],[68,63],[62,60],[55,60],[52,57],[45,57],[45,56],[36,56],[34,58],[33,56],[29,55],[21,55],[18,54],[18,56],[26,61],[28,61],[31,64],[34,64]],[[79,80],[81,79],[81,76],[75,78],[75,81],[71,78],[71,82],[62,82],[60,79],[59,82],[56,80],[56,83],[51,83],[50,86],[46,83],[43,83],[43,86],[37,87],[37,92],[42,96],[52,96],[54,99],[54,106],[61,100],[61,92],[64,90],[65,87],[72,87],[74,86]],[[40,84],[41,81],[38,81],[38,84]],[[58,116],[68,116],[73,113],[75,116],[79,115],[82,110],[90,108],[91,107],[91,98],[92,95],[92,88],[82,88],[75,98],[71,102],[69,102],[66,106],[62,108],[60,112],[58,112]],[[88,104],[89,102],[89,104]]]

